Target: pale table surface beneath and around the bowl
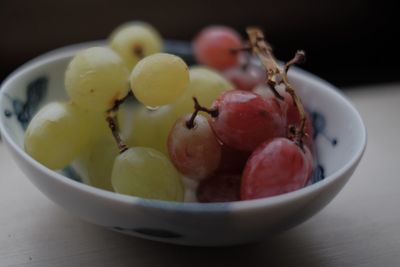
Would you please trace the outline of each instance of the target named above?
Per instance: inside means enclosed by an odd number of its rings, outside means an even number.
[[[302,225],[236,247],[169,245],[83,222],[42,195],[0,143],[0,266],[400,266],[400,84],[345,94],[368,129],[349,183]]]

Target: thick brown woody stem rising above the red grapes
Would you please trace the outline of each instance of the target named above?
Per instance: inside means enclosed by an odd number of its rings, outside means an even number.
[[[294,58],[291,59],[289,62],[287,62],[284,68],[282,69],[278,65],[272,53],[271,45],[265,40],[262,30],[257,27],[249,27],[247,28],[246,31],[247,35],[249,36],[249,44],[252,48],[253,54],[257,55],[257,57],[261,61],[261,64],[266,69],[267,72],[266,83],[269,85],[275,97],[277,97],[280,100],[283,100],[283,97],[278,93],[278,91],[275,88],[277,85],[283,84],[285,86],[286,92],[288,92],[291,95],[293,102],[299,111],[300,115],[299,129],[298,130],[289,129],[289,132],[294,133],[296,144],[301,149],[304,149],[303,137],[305,135],[304,134],[305,121],[306,121],[305,110],[300,97],[296,94],[295,89],[289,83],[287,72],[292,65],[303,63],[305,61],[305,52],[302,50],[297,51]]]

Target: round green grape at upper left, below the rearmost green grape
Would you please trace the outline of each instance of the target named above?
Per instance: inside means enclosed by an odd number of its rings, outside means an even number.
[[[106,47],[83,50],[69,63],[65,88],[77,105],[106,111],[129,91],[129,72],[122,59]]]

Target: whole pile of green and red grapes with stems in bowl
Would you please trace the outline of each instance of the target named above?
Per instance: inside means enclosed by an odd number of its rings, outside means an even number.
[[[151,25],[118,27],[107,46],[70,61],[69,100],[34,116],[25,150],[55,170],[80,161],[93,186],[150,199],[238,201],[304,187],[312,127],[287,79],[304,54],[280,67],[262,32],[247,34],[205,28],[193,41],[202,65],[189,68],[162,52]]]

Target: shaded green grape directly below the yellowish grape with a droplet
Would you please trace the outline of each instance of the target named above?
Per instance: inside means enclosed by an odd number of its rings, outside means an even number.
[[[169,106],[162,106],[156,110],[149,110],[144,106],[136,107],[130,118],[132,123],[127,144],[151,147],[168,155],[168,135],[176,118]]]

